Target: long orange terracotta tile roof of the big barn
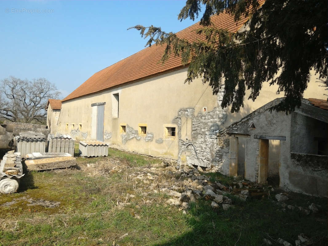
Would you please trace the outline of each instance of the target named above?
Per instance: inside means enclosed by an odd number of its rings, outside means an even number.
[[[264,1],[260,1],[260,4],[263,3]],[[225,29],[230,32],[238,31],[247,19],[248,18],[244,17],[238,22],[235,22],[234,16],[225,12],[211,17],[211,21],[217,28]],[[180,38],[187,39],[190,42],[204,39],[204,36],[198,35],[195,32],[195,30],[200,27],[201,25],[197,22],[194,25],[177,32],[176,35]],[[159,61],[162,58],[164,49],[165,45],[152,45],[151,47],[145,48],[112,66],[96,72],[71,94],[65,97],[62,102],[183,68],[181,57],[174,57],[174,55],[162,65]]]

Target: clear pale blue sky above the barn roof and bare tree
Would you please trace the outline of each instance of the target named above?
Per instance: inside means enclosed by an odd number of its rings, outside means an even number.
[[[0,1],[0,80],[45,77],[67,96],[93,73],[142,50],[137,24],[180,31],[185,0]]]

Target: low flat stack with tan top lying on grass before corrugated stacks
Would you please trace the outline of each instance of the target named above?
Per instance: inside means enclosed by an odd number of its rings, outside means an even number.
[[[71,156],[53,157],[44,159],[26,160],[28,171],[52,170],[57,168],[65,168],[76,165],[76,159]]]

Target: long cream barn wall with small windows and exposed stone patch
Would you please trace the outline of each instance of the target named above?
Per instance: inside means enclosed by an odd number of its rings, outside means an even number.
[[[263,84],[255,102],[246,99],[244,108],[232,114],[229,108],[222,110],[219,106],[222,94],[213,95],[212,88],[207,84],[203,85],[201,79],[184,84],[186,71],[187,69],[181,69],[65,101],[62,103],[58,132],[72,134],[77,140],[94,139],[95,116],[93,114],[92,117],[91,104],[106,102],[104,141],[110,146],[179,161],[183,159],[188,164],[207,167],[215,165],[215,131],[275,99],[277,87],[269,87],[269,83]],[[323,98],[321,87],[314,81],[309,84],[307,91],[309,93],[304,94],[306,97]],[[113,107],[115,93],[119,94],[118,118]],[[203,111],[204,107],[206,111]],[[139,124],[147,125],[147,135],[138,134]],[[188,133],[184,133],[186,124],[191,126]],[[127,133],[120,133],[120,125],[126,125]],[[165,126],[168,125],[176,127],[175,137],[165,135]]]

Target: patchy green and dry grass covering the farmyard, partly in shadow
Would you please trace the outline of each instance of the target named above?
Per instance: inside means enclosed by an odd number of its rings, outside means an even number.
[[[153,192],[172,185],[174,168],[154,168],[160,163],[155,158],[114,149],[109,153],[77,158],[78,169],[28,173],[18,193],[0,195],[0,245],[262,245],[267,234],[294,244],[301,233],[326,245],[325,198],[289,195],[289,204],[322,205],[320,213],[308,216],[282,212],[271,201],[274,194],[247,202],[229,195],[236,207],[228,211],[199,200],[185,215],[166,204],[167,195]],[[148,174],[154,178],[145,184]],[[205,175],[226,186],[236,182],[221,174]],[[29,206],[40,199],[60,205]]]

